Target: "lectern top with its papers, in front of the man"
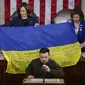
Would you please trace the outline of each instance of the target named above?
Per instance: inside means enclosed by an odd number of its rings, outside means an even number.
[[[22,85],[64,85],[64,79],[24,79]]]

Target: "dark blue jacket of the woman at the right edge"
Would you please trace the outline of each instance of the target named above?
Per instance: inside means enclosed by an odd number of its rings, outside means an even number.
[[[74,26],[74,24],[73,24]],[[85,21],[81,21],[79,25],[79,31],[77,33],[77,38],[79,43],[85,42]],[[81,49],[82,52],[85,52],[85,47]]]

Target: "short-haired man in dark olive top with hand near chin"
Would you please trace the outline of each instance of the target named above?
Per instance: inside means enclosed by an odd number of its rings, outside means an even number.
[[[50,50],[41,48],[40,58],[34,59],[26,68],[28,79],[33,78],[61,78],[64,76],[62,68],[50,59]]]

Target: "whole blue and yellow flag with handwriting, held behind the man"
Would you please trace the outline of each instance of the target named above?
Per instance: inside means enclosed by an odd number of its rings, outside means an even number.
[[[47,47],[61,67],[75,65],[81,55],[72,23],[30,27],[0,27],[0,49],[8,61],[6,72],[24,73],[30,61]]]

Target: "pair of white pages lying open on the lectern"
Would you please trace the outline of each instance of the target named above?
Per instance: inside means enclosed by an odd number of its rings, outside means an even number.
[[[25,79],[23,83],[43,83],[43,79]],[[44,83],[58,83],[63,84],[64,79],[45,79]]]

